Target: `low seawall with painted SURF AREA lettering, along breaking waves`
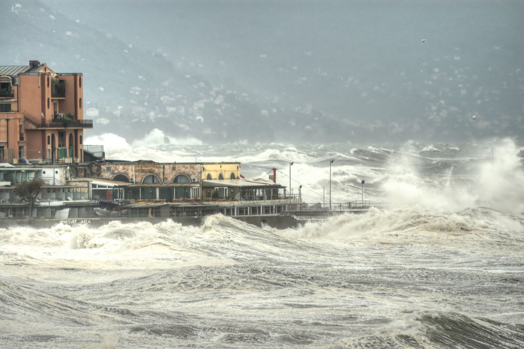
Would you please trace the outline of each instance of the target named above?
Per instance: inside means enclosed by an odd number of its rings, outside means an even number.
[[[296,228],[305,221],[297,219],[294,216],[228,216],[234,219],[244,221],[257,227],[265,225],[276,229]],[[204,217],[171,217],[169,218],[176,223],[184,226],[201,226],[205,220]],[[1,219],[0,228],[8,229],[10,227],[33,227],[33,228],[52,228],[57,224],[71,226],[87,225],[98,228],[112,221],[121,221],[123,224],[135,224],[148,222],[158,224],[166,221],[166,218],[74,218],[74,219]]]

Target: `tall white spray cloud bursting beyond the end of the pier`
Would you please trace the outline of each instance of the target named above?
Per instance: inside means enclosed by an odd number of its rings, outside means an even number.
[[[524,212],[524,171],[514,142],[504,140],[497,147],[495,161],[475,166],[466,181],[457,181],[452,171],[425,178],[411,157],[391,161],[389,178],[383,185],[387,202],[393,207],[420,207],[429,210],[457,210],[488,206],[508,213]]]

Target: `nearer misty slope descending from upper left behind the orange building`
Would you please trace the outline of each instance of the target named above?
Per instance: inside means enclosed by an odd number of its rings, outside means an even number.
[[[227,97],[227,91],[222,96],[204,78],[184,75],[162,55],[133,49],[41,3],[19,5],[16,12],[1,12],[2,23],[13,32],[2,54],[8,58],[3,64],[27,65],[29,59],[38,59],[58,72],[84,73],[85,108],[100,112],[94,120],[95,132],[133,138],[159,128],[173,136],[219,134],[222,139],[226,128],[238,134],[244,130],[235,129],[238,122],[227,123],[246,111],[252,113],[248,98]]]

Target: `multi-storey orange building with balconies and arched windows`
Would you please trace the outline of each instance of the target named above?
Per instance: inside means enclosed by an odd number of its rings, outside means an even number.
[[[0,66],[0,162],[83,162],[82,73],[56,73],[37,60]],[[22,160],[23,161],[23,160]]]

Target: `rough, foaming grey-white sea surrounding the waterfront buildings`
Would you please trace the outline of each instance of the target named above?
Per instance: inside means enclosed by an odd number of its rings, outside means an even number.
[[[0,228],[0,347],[524,347],[522,144],[161,139],[106,153],[241,161],[246,178],[275,167],[306,203],[383,205],[283,230],[221,215]]]

